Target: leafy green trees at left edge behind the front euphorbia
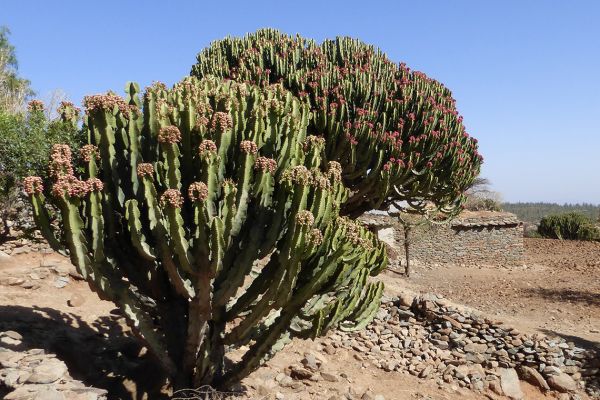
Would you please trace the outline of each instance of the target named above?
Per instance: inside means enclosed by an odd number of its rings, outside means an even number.
[[[38,100],[26,102],[34,92],[30,82],[18,76],[16,51],[9,34],[8,28],[0,27],[0,241],[8,238],[8,221],[15,219],[22,179],[32,174],[47,179],[52,145],[67,143],[77,149],[83,139],[77,126],[77,109],[64,101],[64,94],[55,92],[50,107]],[[74,114],[65,116],[68,122],[62,122],[57,117],[66,109]]]

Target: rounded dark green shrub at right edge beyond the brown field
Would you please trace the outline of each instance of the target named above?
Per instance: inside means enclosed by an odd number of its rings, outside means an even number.
[[[553,239],[599,240],[600,230],[585,215],[571,212],[542,218],[538,226],[541,236]]]

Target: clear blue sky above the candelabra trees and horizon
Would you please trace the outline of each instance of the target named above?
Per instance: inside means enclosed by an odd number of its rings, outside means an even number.
[[[22,76],[62,89],[172,84],[212,40],[349,35],[452,89],[507,201],[600,203],[600,1],[2,2]]]

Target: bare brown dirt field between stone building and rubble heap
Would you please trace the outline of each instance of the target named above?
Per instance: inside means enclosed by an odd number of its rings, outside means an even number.
[[[416,266],[388,287],[443,294],[523,330],[600,345],[600,243],[525,239],[520,268]],[[389,274],[389,273],[388,273]]]

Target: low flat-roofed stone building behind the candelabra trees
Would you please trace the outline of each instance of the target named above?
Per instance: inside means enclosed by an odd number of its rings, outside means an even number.
[[[391,252],[398,260],[404,260],[404,235],[397,217],[370,213],[361,219],[392,248]],[[523,264],[523,223],[510,213],[464,212],[448,224],[419,226],[411,237],[411,261],[417,263]]]

